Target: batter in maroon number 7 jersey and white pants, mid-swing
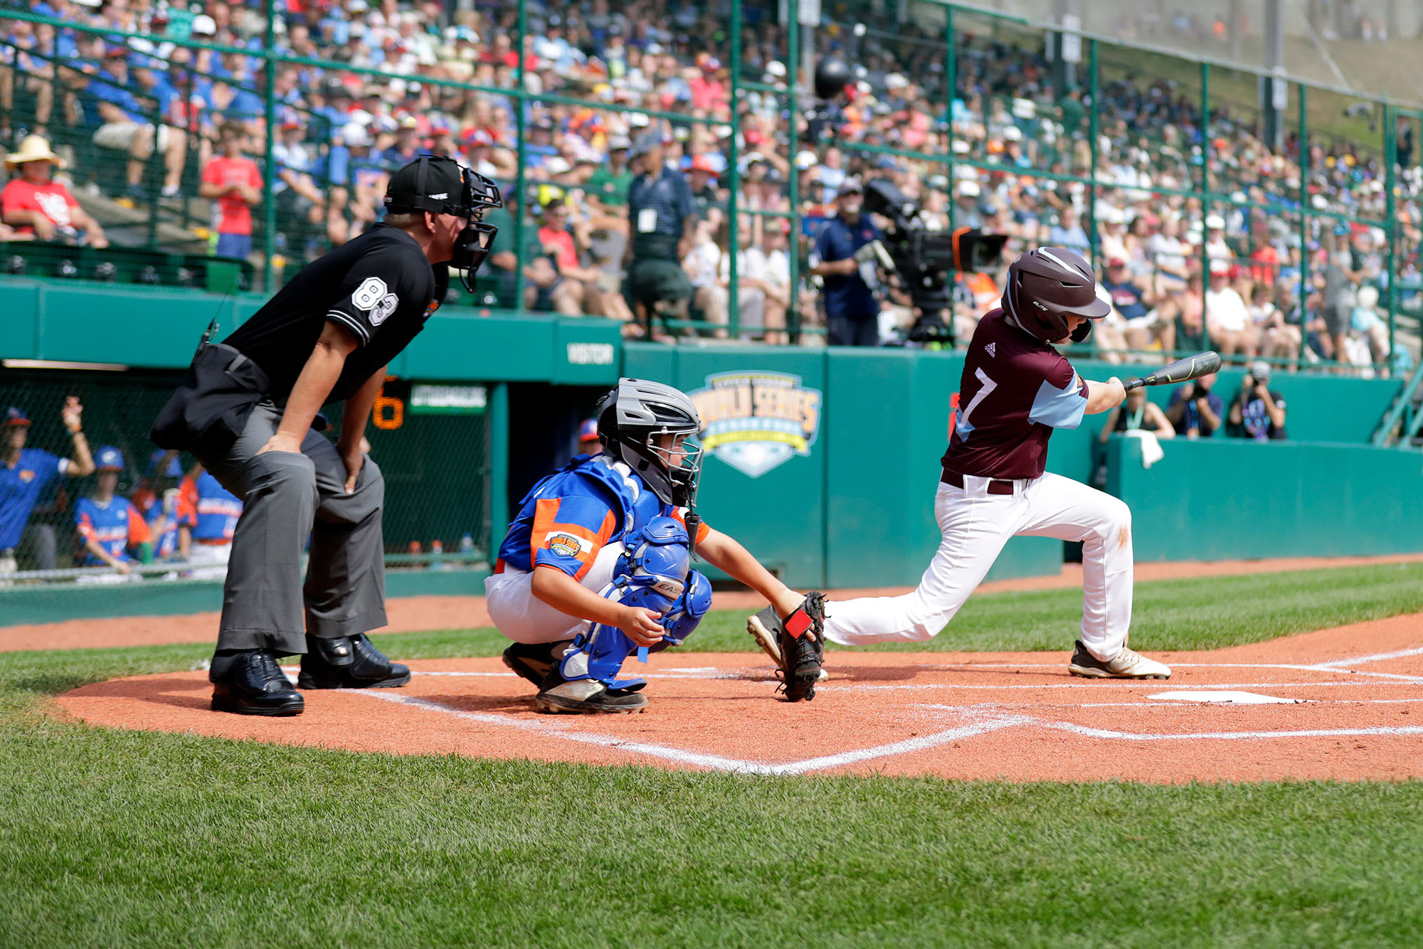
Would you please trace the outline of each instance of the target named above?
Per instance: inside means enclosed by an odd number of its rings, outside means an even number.
[[[924,642],[978,588],[1010,536],[1083,544],[1081,639],[1069,672],[1093,679],[1168,679],[1127,647],[1131,626],[1131,511],[1084,484],[1044,474],[1054,428],[1126,398],[1121,380],[1086,381],[1049,343],[1081,341],[1110,312],[1087,262],[1039,248],[1009,267],[1002,307],[979,320],[963,363],[933,514],[943,539],[919,586],[904,596],[825,605],[824,637],[841,646]],[[754,635],[756,630],[753,630]]]

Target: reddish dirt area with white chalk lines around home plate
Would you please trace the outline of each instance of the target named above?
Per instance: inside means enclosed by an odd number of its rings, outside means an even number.
[[[1423,615],[1160,657],[1170,682],[1124,683],[1069,677],[1066,653],[837,652],[820,696],[788,704],[761,656],[673,652],[635,666],[650,680],[639,716],[538,714],[497,659],[416,662],[398,690],[307,691],[306,714],[286,720],[209,711],[202,672],[97,683],[55,704],[121,728],[751,774],[1423,777]]]

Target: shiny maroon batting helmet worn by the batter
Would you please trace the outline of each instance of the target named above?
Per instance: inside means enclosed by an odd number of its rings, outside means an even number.
[[[1003,312],[1025,332],[1056,343],[1067,336],[1067,317],[1084,316],[1072,333],[1081,343],[1091,322],[1111,313],[1111,304],[1097,296],[1097,277],[1081,255],[1067,248],[1035,248],[1007,267]]]

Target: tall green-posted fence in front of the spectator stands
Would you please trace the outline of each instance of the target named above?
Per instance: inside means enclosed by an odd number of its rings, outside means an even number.
[[[817,343],[817,239],[855,176],[892,182],[926,228],[1079,246],[1104,276],[1121,259],[1120,320],[1094,334],[1113,359],[1215,344],[1372,373],[1417,346],[1423,171],[1417,114],[1396,104],[1416,97],[1340,92],[1390,87],[1316,75],[1326,57],[1289,46],[1405,50],[1416,27],[1395,4],[1285,4],[1284,71],[1259,50],[1279,4],[1255,0],[144,1],[63,23],[6,6],[0,132],[17,149],[47,137],[108,242],[169,252],[107,279],[273,287],[377,222],[390,172],[430,151],[508,199],[477,295],[448,303]],[[832,57],[850,83],[821,101],[814,70]],[[692,193],[684,229],[680,212],[629,213],[657,159]],[[14,221],[6,267],[87,279],[111,263],[38,259]],[[74,236],[92,238],[83,223]],[[670,265],[656,280],[639,279],[649,243]],[[961,343],[1000,287],[999,272],[953,277]],[[879,336],[904,341],[912,302],[881,290]]]

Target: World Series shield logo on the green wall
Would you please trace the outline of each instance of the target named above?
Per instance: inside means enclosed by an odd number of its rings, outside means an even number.
[[[808,455],[820,435],[821,393],[787,373],[720,373],[687,393],[702,447],[750,478]]]

